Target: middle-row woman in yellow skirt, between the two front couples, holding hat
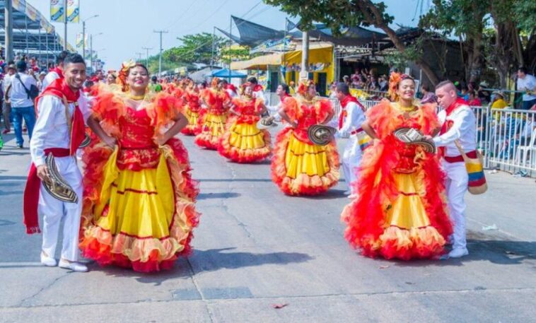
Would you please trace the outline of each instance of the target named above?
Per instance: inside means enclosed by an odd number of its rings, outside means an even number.
[[[314,83],[301,83],[298,94],[281,102],[279,115],[292,127],[276,137],[272,180],[285,194],[322,194],[339,182],[339,153],[334,141],[316,145],[307,131],[314,124],[329,122],[334,112],[329,100],[316,97]]]

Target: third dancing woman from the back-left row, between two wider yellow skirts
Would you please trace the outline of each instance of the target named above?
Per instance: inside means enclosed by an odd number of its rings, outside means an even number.
[[[213,87],[203,90],[201,98],[206,105],[202,113],[201,132],[195,136],[197,146],[217,150],[220,137],[225,131],[228,107],[231,103],[223,80],[214,78]]]

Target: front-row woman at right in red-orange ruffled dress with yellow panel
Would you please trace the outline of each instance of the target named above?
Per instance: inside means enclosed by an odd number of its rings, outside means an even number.
[[[358,198],[342,212],[344,237],[368,257],[438,258],[452,233],[438,158],[422,146],[403,143],[402,127],[432,135],[439,127],[433,105],[413,103],[415,81],[393,73],[390,93],[366,112],[363,130],[374,139],[361,160]]]

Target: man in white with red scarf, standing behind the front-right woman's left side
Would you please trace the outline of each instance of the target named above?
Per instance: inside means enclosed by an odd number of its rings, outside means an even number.
[[[359,177],[358,167],[361,163],[362,151],[370,140],[370,137],[366,136],[361,128],[361,124],[365,122],[365,107],[350,95],[350,89],[346,83],[337,84],[335,91],[342,107],[337,124],[337,134],[338,136],[349,135],[342,153],[342,172],[344,172],[344,180],[348,186],[348,190],[344,194],[354,199],[357,197],[356,183]]]

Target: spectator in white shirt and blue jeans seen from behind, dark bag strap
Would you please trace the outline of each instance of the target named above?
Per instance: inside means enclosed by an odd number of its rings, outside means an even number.
[[[16,64],[17,73],[11,78],[11,112],[13,113],[13,128],[18,148],[23,148],[23,119],[28,127],[28,137],[32,139],[33,126],[35,125],[35,108],[33,98],[30,97],[32,86],[37,87],[37,82],[33,76],[26,74],[27,64],[25,61],[18,61]]]

